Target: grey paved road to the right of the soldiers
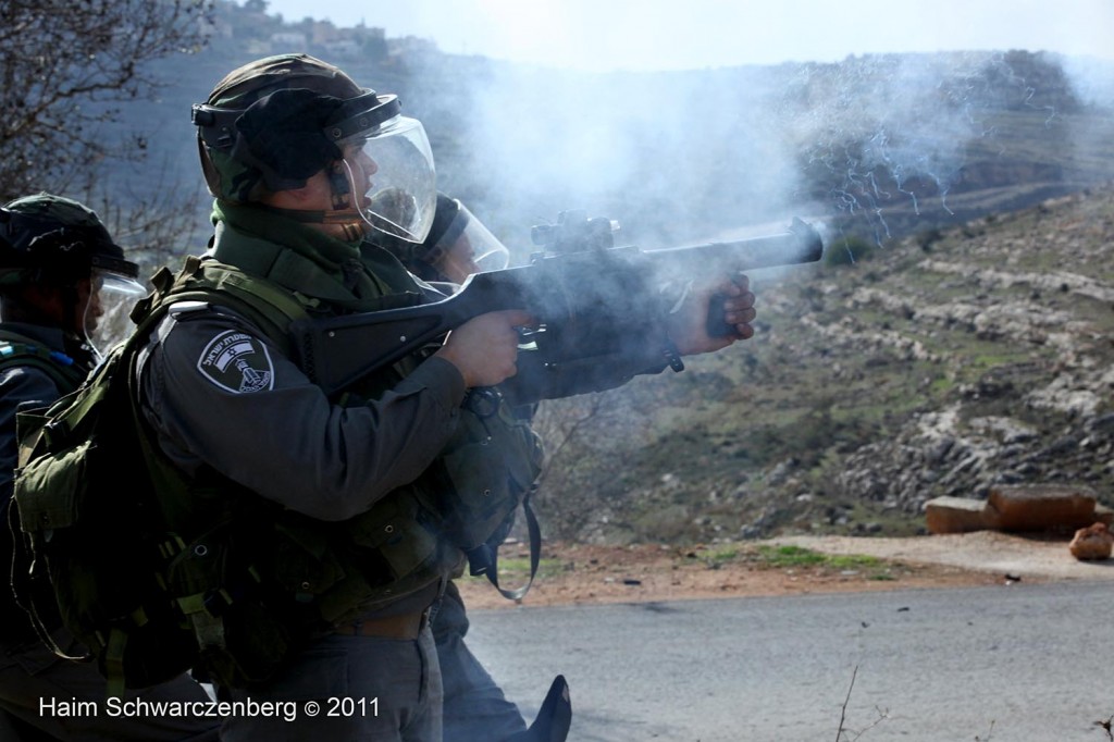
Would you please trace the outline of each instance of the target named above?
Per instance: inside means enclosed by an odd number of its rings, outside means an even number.
[[[469,638],[530,719],[565,674],[570,742],[834,742],[849,689],[844,742],[1104,742],[1114,715],[1110,583],[527,606]]]

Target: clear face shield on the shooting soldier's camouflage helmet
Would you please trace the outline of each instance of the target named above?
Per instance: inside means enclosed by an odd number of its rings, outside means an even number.
[[[394,116],[370,136],[342,140],[352,206],[374,230],[420,243],[437,209],[433,153],[414,118]]]

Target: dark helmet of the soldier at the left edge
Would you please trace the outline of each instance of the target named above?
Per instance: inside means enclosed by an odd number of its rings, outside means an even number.
[[[0,286],[67,284],[94,270],[129,281],[139,275],[92,209],[47,193],[0,207]]]

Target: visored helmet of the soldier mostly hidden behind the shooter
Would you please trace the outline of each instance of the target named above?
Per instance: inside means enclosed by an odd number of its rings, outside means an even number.
[[[437,194],[437,213],[420,245],[394,242],[390,250],[427,281],[463,283],[472,273],[507,267],[510,253],[460,201]]]

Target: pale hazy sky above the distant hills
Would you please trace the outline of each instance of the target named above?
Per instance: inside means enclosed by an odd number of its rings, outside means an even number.
[[[1114,0],[270,0],[286,20],[442,51],[590,70],[692,69],[937,50],[1114,58]]]

